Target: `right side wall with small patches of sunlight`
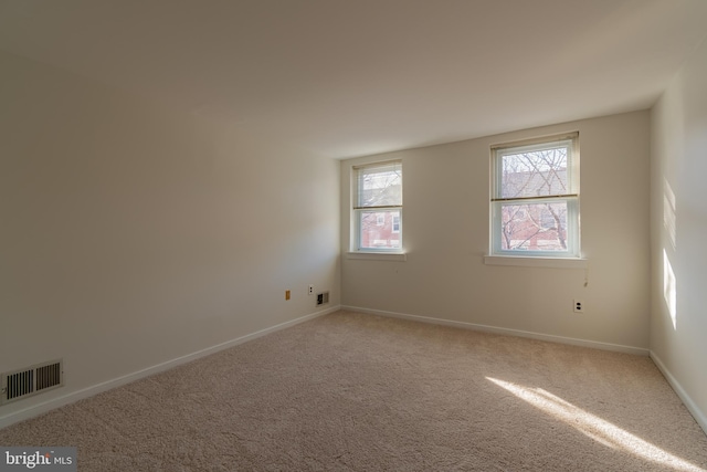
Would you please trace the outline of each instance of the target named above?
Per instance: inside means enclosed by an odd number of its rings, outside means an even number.
[[[703,42],[684,64],[651,114],[651,353],[707,431],[707,305],[704,298],[707,289],[705,84],[707,42]],[[671,192],[675,196],[675,208],[672,208]],[[669,229],[669,221],[673,219],[674,231]],[[665,258],[673,269],[675,281],[676,310],[673,313],[665,296]],[[667,292],[669,300],[669,287]]]

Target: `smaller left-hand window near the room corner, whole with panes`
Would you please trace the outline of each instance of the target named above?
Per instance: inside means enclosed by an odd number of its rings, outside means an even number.
[[[359,251],[402,250],[402,162],[355,167],[356,247]]]

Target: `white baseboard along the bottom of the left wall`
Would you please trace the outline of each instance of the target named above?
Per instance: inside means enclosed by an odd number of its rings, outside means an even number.
[[[188,354],[186,356],[177,357],[176,359],[167,360],[166,363],[158,364],[156,366],[148,367],[143,370],[138,370],[133,374],[128,374],[115,379],[110,379],[101,384],[93,385],[91,387],[86,387],[81,390],[72,391],[66,395],[63,395],[57,398],[53,398],[51,400],[44,401],[42,403],[33,405],[22,410],[13,411],[8,413],[7,416],[0,417],[0,429],[6,428],[10,424],[13,424],[19,421],[23,421],[30,418],[34,418],[39,415],[45,413],[50,410],[53,410],[59,407],[63,407],[64,405],[73,403],[75,401],[82,400],[84,398],[93,397],[94,395],[101,394],[106,390],[110,390],[116,387],[120,387],[126,384],[130,384],[135,380],[149,377],[155,374],[159,374],[161,371],[171,369],[173,367],[180,366],[182,364],[190,363],[192,360],[199,359],[201,357],[209,356],[210,354],[215,354],[220,350],[228,349],[229,347],[238,346],[239,344],[246,343],[249,340],[253,340],[261,336],[265,336],[271,333],[275,333],[281,329],[285,329],[292,326],[295,326],[299,323],[307,322],[309,319],[314,319],[319,316],[327,315],[329,313],[338,312],[341,310],[339,305],[331,306],[327,310],[323,310],[320,312],[315,312],[309,315],[300,316],[296,319],[292,319],[289,322],[281,323],[275,326],[271,326],[265,329],[257,331],[255,333],[247,334],[245,336],[238,337],[235,339],[226,340],[225,343],[218,344],[215,346],[207,347],[205,349],[198,350],[192,354]]]

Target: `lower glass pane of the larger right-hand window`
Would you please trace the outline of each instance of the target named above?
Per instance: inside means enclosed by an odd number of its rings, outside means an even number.
[[[502,250],[567,251],[567,201],[500,206]]]

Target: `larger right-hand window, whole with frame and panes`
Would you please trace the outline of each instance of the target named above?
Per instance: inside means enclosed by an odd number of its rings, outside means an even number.
[[[493,255],[579,258],[579,135],[492,147]]]

